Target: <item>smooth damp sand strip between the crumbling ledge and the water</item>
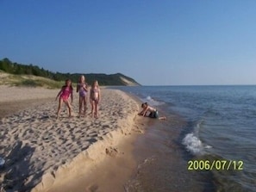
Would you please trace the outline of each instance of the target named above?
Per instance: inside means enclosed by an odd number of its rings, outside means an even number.
[[[126,184],[136,174],[138,165],[134,157],[134,143],[145,127],[144,120],[135,119],[136,129],[128,135],[123,135],[122,139],[110,148],[109,154],[102,154],[102,159],[89,159],[85,164],[79,164],[75,174],[59,177],[46,191],[126,191]]]

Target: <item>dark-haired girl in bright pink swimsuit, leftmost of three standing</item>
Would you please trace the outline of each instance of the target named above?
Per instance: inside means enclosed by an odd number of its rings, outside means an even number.
[[[60,108],[61,108],[63,102],[65,102],[65,104],[68,108],[69,117],[72,116],[72,108],[71,108],[71,104],[68,100],[69,96],[71,96],[71,99],[73,101],[72,81],[70,79],[67,79],[66,80],[66,85],[64,85],[61,88],[61,90],[59,90],[59,93],[56,96],[56,101],[59,97],[59,107],[58,107],[58,111],[57,111],[57,119],[59,118],[59,111],[60,111]]]

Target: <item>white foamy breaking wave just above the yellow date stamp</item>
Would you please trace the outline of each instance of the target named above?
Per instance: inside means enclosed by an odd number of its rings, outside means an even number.
[[[194,133],[188,133],[182,140],[182,144],[185,146],[186,150],[193,155],[202,155],[204,148],[211,148],[211,146],[204,146],[203,142],[198,139]]]

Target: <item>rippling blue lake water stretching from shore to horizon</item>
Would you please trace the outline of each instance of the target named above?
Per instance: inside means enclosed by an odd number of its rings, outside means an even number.
[[[116,89],[139,97],[141,102],[148,102],[158,108],[161,115],[167,116],[169,122],[156,122],[155,126],[164,131],[155,131],[155,134],[162,134],[161,138],[165,136],[165,142],[170,139],[175,143],[178,147],[175,152],[180,153],[180,158],[186,162],[176,164],[182,174],[173,169],[151,173],[152,167],[146,169],[145,173],[153,174],[156,180],[151,190],[256,191],[256,86],[140,86]],[[179,132],[173,129],[170,121],[173,115],[182,122],[178,124]],[[172,138],[173,135],[175,138]],[[155,146],[161,145],[160,139],[155,141]],[[163,158],[168,159],[168,152],[173,151],[173,147],[165,148]],[[173,156],[174,152],[170,154]],[[164,164],[165,168],[173,166],[170,163],[173,157],[168,162],[159,159],[159,164]],[[146,185],[152,183],[149,177],[147,180]],[[162,188],[163,185],[169,187]],[[183,188],[185,185],[188,189]],[[137,191],[148,190],[142,184]]]

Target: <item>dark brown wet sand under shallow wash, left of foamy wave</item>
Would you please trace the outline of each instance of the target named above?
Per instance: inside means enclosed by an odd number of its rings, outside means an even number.
[[[126,191],[215,191],[209,171],[188,170],[188,155],[181,146],[186,122],[177,115],[153,121],[134,142],[137,170],[126,183]],[[206,182],[203,182],[206,181]]]

